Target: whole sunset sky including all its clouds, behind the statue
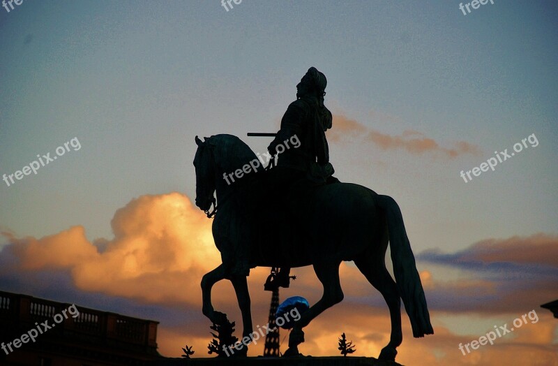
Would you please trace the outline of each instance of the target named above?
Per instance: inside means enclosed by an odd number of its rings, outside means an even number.
[[[493,2],[0,8],[0,290],[160,321],[161,354],[208,357],[199,281],[220,255],[193,205],[194,137],[266,152],[269,138],[246,133],[276,132],[315,66],[335,176],[395,198],[425,288],[435,335],[412,338],[404,315],[396,360],[558,365],[558,319],[540,307],[558,299],[558,6]],[[312,268],[292,272],[280,298],[317,302]],[[336,355],[345,332],[354,356],[377,357],[385,302],[353,263],[340,273],[345,300],[299,349]],[[267,274],[248,277],[259,325]],[[229,282],[213,297],[241,323]],[[494,344],[458,349],[525,314]]]

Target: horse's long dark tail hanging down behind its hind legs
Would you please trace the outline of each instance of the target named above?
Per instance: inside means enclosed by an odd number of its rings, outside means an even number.
[[[395,282],[409,315],[414,337],[434,334],[426,307],[421,277],[418,276],[411,243],[405,231],[399,205],[390,196],[377,196],[379,207],[386,213],[389,245]]]

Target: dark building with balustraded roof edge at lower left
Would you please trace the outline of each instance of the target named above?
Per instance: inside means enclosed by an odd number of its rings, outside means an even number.
[[[147,365],[162,358],[157,325],[0,291],[0,365]]]

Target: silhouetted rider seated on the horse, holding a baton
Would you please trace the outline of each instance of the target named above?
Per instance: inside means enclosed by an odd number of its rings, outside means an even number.
[[[315,67],[308,69],[296,85],[296,101],[287,108],[281,128],[267,148],[271,155],[280,153],[277,166],[269,171],[271,189],[278,198],[287,198],[291,203],[299,201],[301,193],[311,187],[338,182],[332,177],[325,134],[332,124],[331,112],[324,105],[326,85],[326,75]],[[300,147],[278,152],[278,145],[294,136],[300,140]],[[278,273],[282,287],[289,287],[289,270],[281,268]]]

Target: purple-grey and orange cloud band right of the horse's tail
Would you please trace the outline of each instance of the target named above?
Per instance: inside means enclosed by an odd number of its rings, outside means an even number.
[[[436,249],[416,258],[467,273],[464,279],[436,282],[429,292],[436,309],[515,314],[558,297],[558,237],[554,235],[489,239],[455,254]]]

